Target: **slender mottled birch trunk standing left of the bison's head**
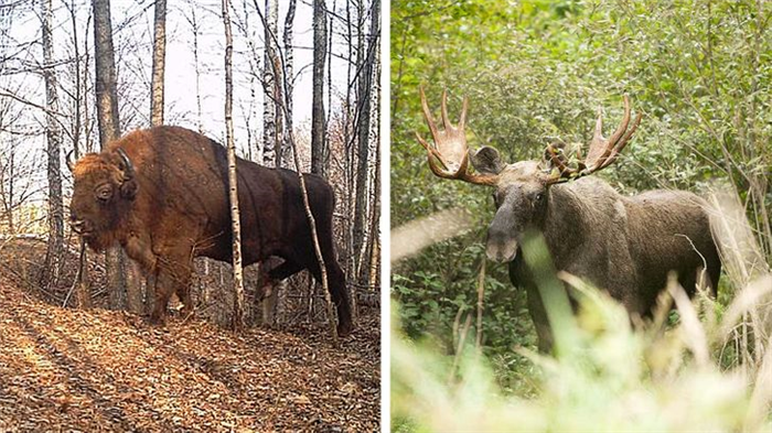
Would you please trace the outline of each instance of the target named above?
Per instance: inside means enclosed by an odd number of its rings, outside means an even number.
[[[62,173],[60,171],[60,149],[62,134],[54,112],[58,111],[56,73],[54,71],[54,46],[51,37],[53,11],[51,0],[41,0],[43,21],[43,79],[45,80],[46,127],[45,138],[49,154],[49,245],[45,251],[45,267],[42,283],[51,288],[58,281],[64,251],[64,207],[62,205]]]

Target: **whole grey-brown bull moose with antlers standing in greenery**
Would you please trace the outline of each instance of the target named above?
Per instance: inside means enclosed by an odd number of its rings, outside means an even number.
[[[544,236],[557,270],[608,290],[631,314],[651,314],[671,271],[677,272],[689,295],[696,291],[698,272],[707,271],[715,295],[721,262],[704,199],[662,190],[628,197],[598,177],[585,177],[611,165],[641,122],[639,115],[631,123],[626,95],[622,121],[609,139],[602,137],[599,112],[587,158],[576,166],[558,143],[547,145],[542,161],[505,164],[491,147],[472,153],[464,133],[467,98],[459,123],[453,126],[443,91],[440,130],[422,88],[420,96],[433,143],[416,137],[427,151],[431,171],[442,178],[495,188],[496,212],[487,229],[486,256],[508,262],[512,283],[526,290],[539,350],[551,347],[551,334],[534,277],[521,253],[523,236],[529,230]],[[474,172],[469,170],[470,161]]]

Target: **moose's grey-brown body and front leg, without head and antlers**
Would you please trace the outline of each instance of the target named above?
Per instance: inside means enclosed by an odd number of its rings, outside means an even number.
[[[556,269],[605,289],[631,314],[650,314],[669,271],[693,295],[697,273],[707,266],[715,294],[721,262],[706,203],[697,195],[650,191],[625,197],[599,178],[585,177],[550,186],[546,199],[544,219],[535,228]],[[510,279],[527,291],[539,349],[547,350],[553,340],[547,314],[519,251],[510,262]]]

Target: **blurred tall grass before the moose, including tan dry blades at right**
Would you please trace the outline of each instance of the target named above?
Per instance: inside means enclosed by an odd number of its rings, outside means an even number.
[[[739,202],[715,194],[711,203],[733,302],[690,301],[672,279],[654,318],[639,326],[603,292],[561,273],[579,293],[579,313],[550,315],[554,356],[518,349],[538,367],[534,396],[502,391],[472,343],[453,357],[400,336],[393,314],[393,431],[772,432],[772,274]],[[545,269],[544,245],[528,250]],[[665,326],[672,304],[679,320]],[[738,356],[722,364],[729,349]]]

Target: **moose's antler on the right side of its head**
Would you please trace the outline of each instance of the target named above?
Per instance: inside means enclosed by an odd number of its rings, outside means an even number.
[[[549,155],[553,164],[559,170],[558,175],[550,178],[549,183],[566,182],[571,178],[586,176],[611,165],[616,161],[619,153],[628,144],[628,141],[630,141],[639,123],[641,123],[640,112],[635,117],[632,127],[628,129],[630,126],[630,98],[628,95],[624,95],[624,116],[622,116],[622,122],[608,140],[603,139],[603,117],[599,108],[596,131],[592,134],[592,141],[590,141],[590,151],[587,154],[587,159],[580,161],[577,167],[568,166],[568,160],[556,144],[549,144],[547,147],[546,153]],[[577,152],[577,156],[581,160],[581,154],[579,152]]]

